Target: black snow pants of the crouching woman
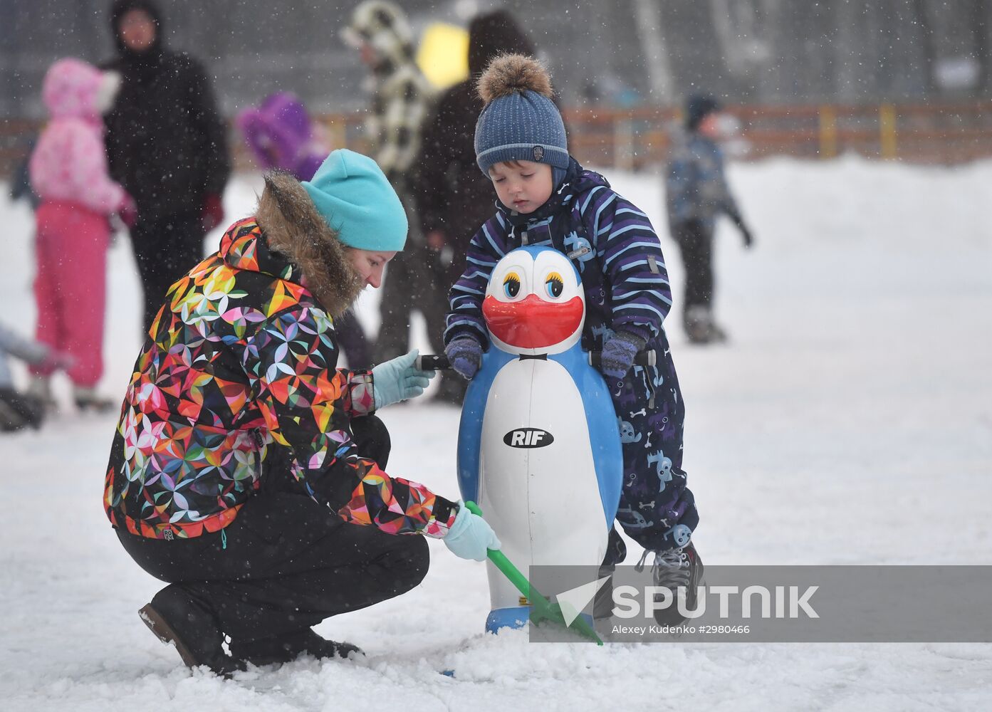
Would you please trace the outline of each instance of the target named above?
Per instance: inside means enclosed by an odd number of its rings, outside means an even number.
[[[359,417],[352,428],[359,451],[384,466],[389,432],[382,421]],[[232,644],[298,635],[423,580],[430,562],[423,536],[346,524],[294,485],[288,470],[267,467],[262,489],[221,533],[173,540],[117,535],[142,568],[211,612]]]

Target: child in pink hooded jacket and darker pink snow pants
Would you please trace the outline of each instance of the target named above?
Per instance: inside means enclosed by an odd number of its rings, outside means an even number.
[[[66,371],[79,408],[105,403],[94,392],[103,372],[108,217],[127,224],[134,201],[107,175],[100,114],[119,77],[79,59],[60,59],[45,75],[42,98],[51,121],[31,157],[31,184],[41,197],[36,212],[37,340],[73,358]],[[32,392],[50,401],[51,368],[32,368]]]

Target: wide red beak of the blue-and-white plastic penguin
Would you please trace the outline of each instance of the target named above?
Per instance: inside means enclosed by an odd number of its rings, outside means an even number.
[[[582,297],[545,301],[536,295],[520,301],[486,297],[482,315],[490,333],[505,344],[540,349],[561,343],[578,330],[585,314]]]

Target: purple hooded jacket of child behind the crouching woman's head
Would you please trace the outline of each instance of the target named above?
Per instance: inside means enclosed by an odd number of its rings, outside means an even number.
[[[289,171],[298,180],[313,178],[329,153],[303,102],[286,91],[242,111],[237,126],[262,168]]]

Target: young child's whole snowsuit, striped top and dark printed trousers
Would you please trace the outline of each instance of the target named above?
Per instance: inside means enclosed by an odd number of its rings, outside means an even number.
[[[682,545],[698,524],[682,470],[685,408],[662,326],[672,288],[662,246],[648,217],[614,192],[605,178],[572,160],[564,183],[529,215],[497,212],[475,234],[468,263],[449,293],[444,342],[469,334],[488,343],[482,299],[500,258],[521,245],[550,245],[571,255],[585,291],[582,346],[601,349],[604,336],[630,331],[655,349],[655,366],[635,366],[611,389],[620,419],[624,484],[617,521],[650,549]],[[618,553],[616,560],[622,560]]]

